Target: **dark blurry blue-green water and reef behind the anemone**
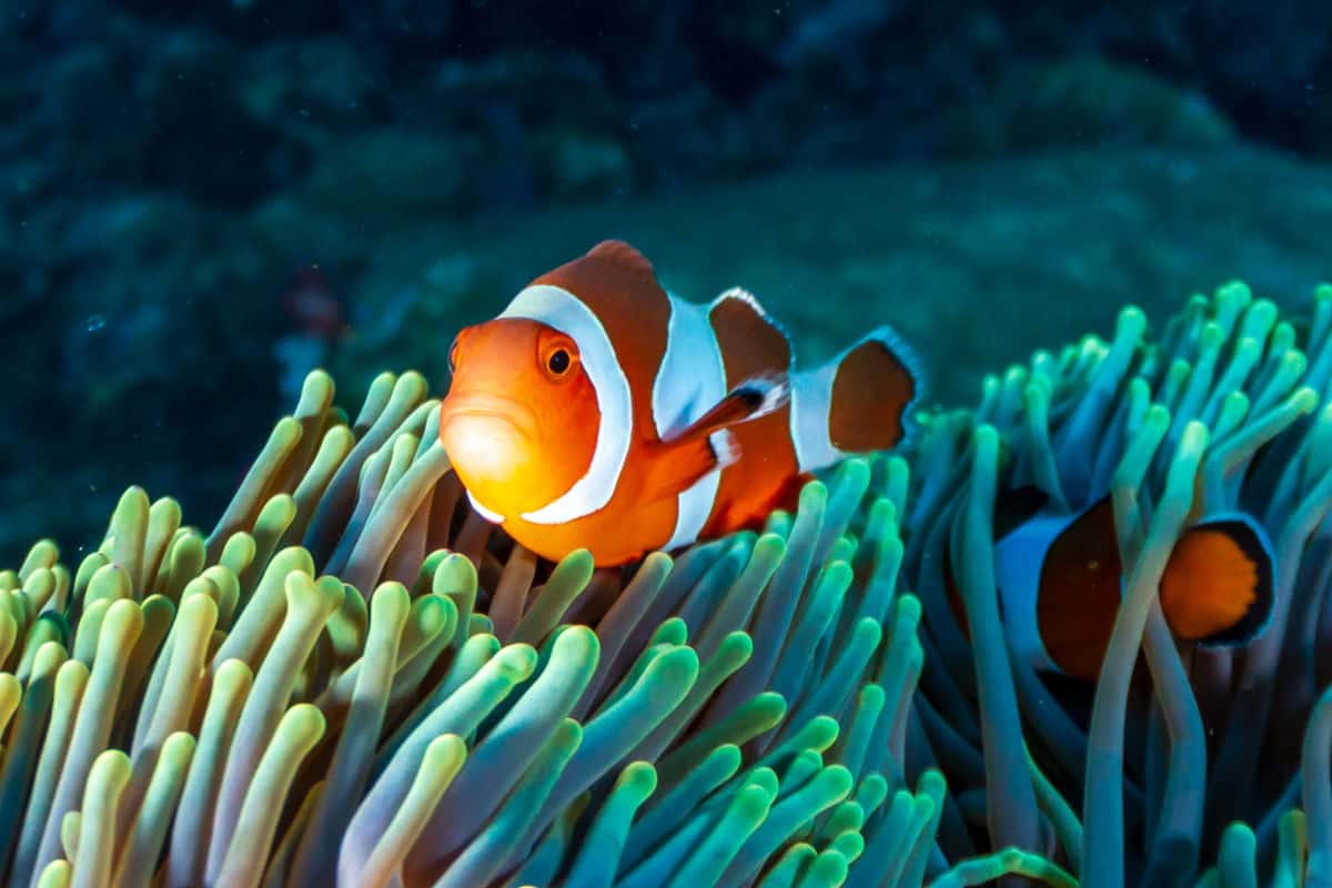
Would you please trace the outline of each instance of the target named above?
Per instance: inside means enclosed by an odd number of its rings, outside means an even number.
[[[605,237],[802,361],[892,324],[948,405],[1126,302],[1328,270],[1317,0],[0,5],[4,563],[129,482],[220,514],[306,370],[442,387]]]

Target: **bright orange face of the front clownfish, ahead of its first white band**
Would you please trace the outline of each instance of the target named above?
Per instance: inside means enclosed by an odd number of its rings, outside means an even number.
[[[482,515],[534,513],[587,473],[601,415],[571,335],[500,317],[465,328],[449,367],[440,441]]]

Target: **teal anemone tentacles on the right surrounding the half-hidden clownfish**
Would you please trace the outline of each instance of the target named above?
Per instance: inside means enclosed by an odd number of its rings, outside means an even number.
[[[926,606],[908,774],[948,777],[950,856],[978,832],[1038,849],[1054,835],[1084,885],[1332,884],[1332,288],[1299,326],[1229,284],[1189,300],[1159,343],[1146,332],[1128,308],[1112,342],[1038,353],[987,379],[974,413],[930,421],[904,522],[903,575]],[[1072,510],[1112,498],[1124,598],[1094,688],[1036,675],[1006,644],[990,509],[1019,485]],[[1189,650],[1158,584],[1191,514],[1232,511],[1276,543],[1275,615],[1245,648]]]

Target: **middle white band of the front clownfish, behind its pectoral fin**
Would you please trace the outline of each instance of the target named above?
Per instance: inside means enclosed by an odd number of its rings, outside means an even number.
[[[702,417],[726,395],[726,367],[717,347],[707,306],[670,297],[666,354],[653,381],[653,422],[657,435],[669,438]],[[717,502],[722,473],[714,469],[677,499],[675,530],[662,549],[687,546],[698,539]]]

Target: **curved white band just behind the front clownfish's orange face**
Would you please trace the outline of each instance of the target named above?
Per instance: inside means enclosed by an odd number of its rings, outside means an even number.
[[[500,317],[538,321],[570,337],[578,345],[578,357],[597,394],[597,409],[601,413],[597,447],[587,474],[553,502],[522,517],[534,525],[562,525],[590,515],[603,509],[615,493],[619,473],[629,455],[634,422],[629,379],[619,366],[606,328],[582,300],[549,284],[529,286],[518,293]]]

